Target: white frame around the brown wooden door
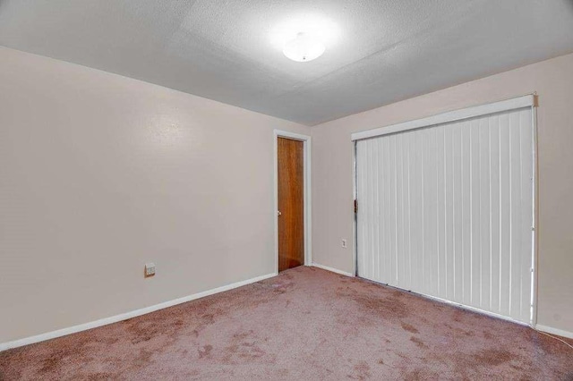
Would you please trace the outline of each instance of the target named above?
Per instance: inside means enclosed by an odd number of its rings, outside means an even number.
[[[274,175],[275,175],[275,272],[278,274],[278,138],[299,140],[304,143],[304,266],[312,266],[312,219],[311,219],[311,137],[299,133],[275,130],[274,144]]]

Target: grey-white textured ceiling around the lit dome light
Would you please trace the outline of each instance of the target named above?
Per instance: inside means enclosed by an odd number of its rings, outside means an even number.
[[[308,15],[337,37],[289,61]],[[573,1],[0,0],[0,45],[313,125],[573,52]]]

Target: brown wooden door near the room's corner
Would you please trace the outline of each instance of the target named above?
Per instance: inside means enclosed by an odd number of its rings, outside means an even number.
[[[304,142],[278,138],[278,271],[304,264]]]

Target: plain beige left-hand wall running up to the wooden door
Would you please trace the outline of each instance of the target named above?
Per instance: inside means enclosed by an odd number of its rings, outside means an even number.
[[[0,343],[274,273],[275,128],[0,48]]]

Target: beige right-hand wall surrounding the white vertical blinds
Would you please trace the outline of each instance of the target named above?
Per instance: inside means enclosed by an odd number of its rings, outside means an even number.
[[[407,99],[312,128],[312,256],[352,272],[351,132],[537,91],[538,324],[573,332],[573,55]],[[342,249],[340,239],[348,239]]]

